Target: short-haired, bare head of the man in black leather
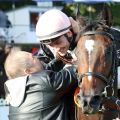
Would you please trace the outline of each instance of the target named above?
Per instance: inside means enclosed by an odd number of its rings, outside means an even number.
[[[41,62],[25,51],[11,51],[5,61],[5,71],[9,79],[35,73],[42,68]]]

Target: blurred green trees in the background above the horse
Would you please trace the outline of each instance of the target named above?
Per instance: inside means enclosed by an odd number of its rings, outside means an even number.
[[[103,5],[107,4],[111,7],[113,14],[113,21],[115,26],[120,26],[120,3],[108,2],[108,3],[79,3],[80,14],[87,16],[89,19],[95,19],[96,16],[102,11]],[[54,2],[54,5],[64,6],[63,12],[68,16],[76,17],[78,3],[65,3],[65,2]]]

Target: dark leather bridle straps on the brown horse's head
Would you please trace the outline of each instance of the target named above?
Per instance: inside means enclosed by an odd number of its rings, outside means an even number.
[[[120,100],[117,99],[117,97],[115,97],[115,90],[114,90],[114,85],[115,85],[115,80],[117,79],[117,65],[116,65],[116,46],[114,43],[114,37],[109,33],[109,32],[104,32],[104,31],[88,31],[88,32],[84,32],[80,34],[80,37],[82,36],[87,36],[87,35],[96,35],[96,34],[102,34],[107,36],[108,38],[110,38],[112,40],[112,44],[110,45],[110,52],[112,52],[112,66],[111,66],[111,71],[109,72],[108,76],[105,76],[102,73],[97,73],[97,72],[86,72],[86,73],[82,73],[82,74],[77,74],[78,75],[78,86],[80,85],[82,78],[86,77],[86,76],[93,76],[96,77],[100,80],[102,80],[106,87],[104,88],[104,91],[101,93],[101,96],[112,100],[116,105],[120,105]],[[112,91],[111,95],[108,95],[109,90]]]

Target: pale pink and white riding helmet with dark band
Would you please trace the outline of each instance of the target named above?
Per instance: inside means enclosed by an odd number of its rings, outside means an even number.
[[[60,10],[51,9],[40,16],[36,25],[36,35],[39,41],[59,37],[69,31],[69,17]]]

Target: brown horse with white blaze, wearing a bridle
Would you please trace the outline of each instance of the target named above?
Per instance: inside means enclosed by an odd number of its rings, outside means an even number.
[[[75,50],[79,80],[74,93],[76,119],[115,120],[120,115],[120,100],[116,97],[114,37],[104,21],[81,22],[82,20],[78,19],[81,30],[77,35]]]

